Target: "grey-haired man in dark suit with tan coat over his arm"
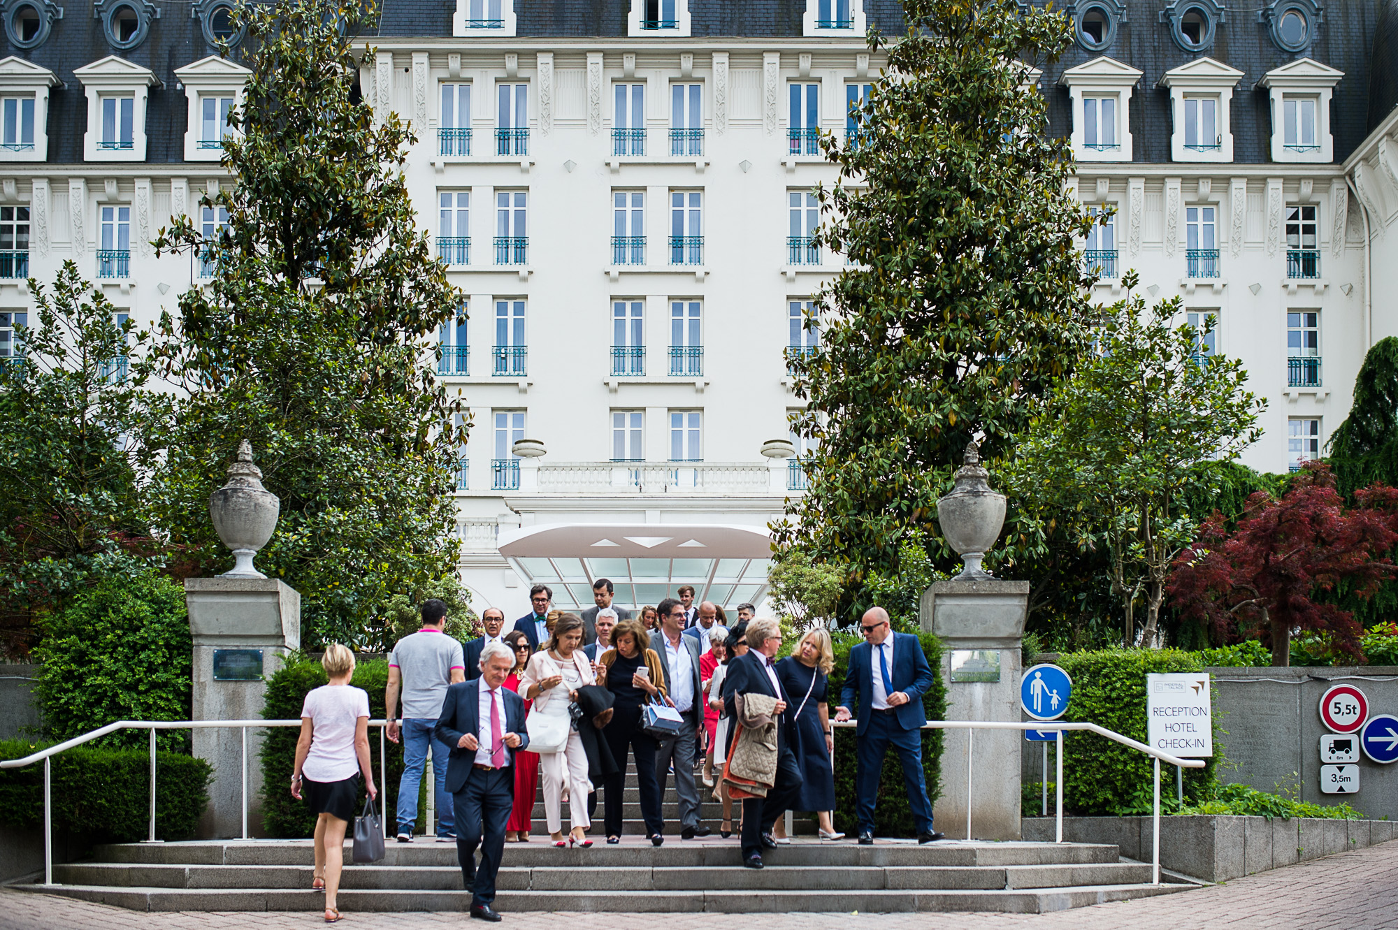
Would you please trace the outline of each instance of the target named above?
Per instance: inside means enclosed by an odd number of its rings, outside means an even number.
[[[678,610],[678,607],[677,607]],[[790,701],[772,656],[781,648],[781,627],[776,620],[762,617],[748,624],[748,654],[728,660],[728,673],[723,680],[723,711],[733,719],[728,732],[737,739],[741,723],[737,722],[738,694],[766,694],[777,700],[777,774],[766,797],[742,799],[742,864],[748,869],[762,869],[762,850],[776,849],[772,825],[795,803],[801,790],[801,767],[791,751],[795,725],[788,712]],[[731,747],[730,747],[731,748]]]

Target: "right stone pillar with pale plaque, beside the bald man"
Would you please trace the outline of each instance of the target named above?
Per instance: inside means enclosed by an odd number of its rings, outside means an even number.
[[[948,721],[1018,723],[1021,638],[1029,609],[1028,581],[952,578],[923,592],[923,630],[942,641],[941,676]],[[953,666],[962,669],[956,677]],[[998,676],[994,669],[998,667]],[[937,828],[952,839],[966,836],[967,730],[945,730],[942,795]],[[1019,839],[1019,730],[976,730],[972,755],[972,838]]]

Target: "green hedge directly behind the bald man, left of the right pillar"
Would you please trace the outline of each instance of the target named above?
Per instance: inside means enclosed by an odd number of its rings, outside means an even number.
[[[923,654],[932,666],[932,687],[923,695],[923,709],[930,721],[946,719],[946,686],[938,672],[942,660],[942,644],[930,633],[918,633]],[[850,649],[863,642],[863,637],[837,633],[835,640],[835,669],[830,672],[826,698],[830,716],[840,704],[840,688],[844,687],[844,670],[850,665]],[[854,834],[858,827],[854,817],[856,792],[854,774],[857,768],[854,748],[854,728],[835,729],[835,828]],[[927,797],[935,804],[941,795],[942,730],[923,732],[923,774],[927,779]],[[884,758],[884,772],[879,776],[878,806],[874,809],[874,832],[879,836],[913,836],[917,829],[907,806],[907,792],[903,788],[903,765],[892,750]]]

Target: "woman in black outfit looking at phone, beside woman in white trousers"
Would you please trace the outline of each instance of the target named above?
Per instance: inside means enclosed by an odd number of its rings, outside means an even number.
[[[656,781],[656,740],[640,729],[640,708],[665,698],[665,676],[660,656],[650,648],[650,634],[640,620],[622,620],[612,630],[612,648],[597,659],[597,683],[611,690],[615,705],[612,721],[603,730],[617,760],[617,772],[607,776],[604,818],[607,842],[621,842],[622,799],[626,790],[626,753],[636,755],[636,782],[640,788],[640,814],[646,836],[653,846],[665,842],[660,835],[660,782]]]

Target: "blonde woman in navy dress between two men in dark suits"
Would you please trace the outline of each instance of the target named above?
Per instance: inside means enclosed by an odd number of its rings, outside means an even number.
[[[825,701],[825,686],[835,667],[835,651],[830,634],[825,630],[811,630],[797,644],[791,655],[776,663],[777,677],[791,700],[790,711],[795,715],[797,764],[805,776],[795,810],[814,810],[821,821],[821,839],[843,839],[835,832],[830,814],[835,810],[835,769],[830,753],[835,739],[830,732],[830,711]],[[781,835],[781,821],[773,831],[777,841]],[[790,841],[786,841],[790,842]]]

